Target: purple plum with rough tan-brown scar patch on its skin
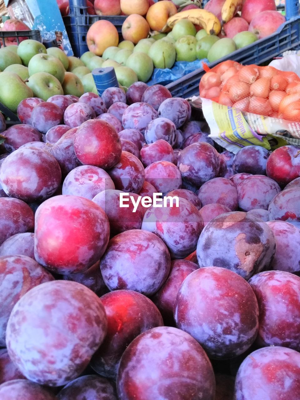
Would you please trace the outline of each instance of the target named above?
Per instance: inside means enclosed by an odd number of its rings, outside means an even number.
[[[274,234],[266,222],[239,211],[221,214],[211,220],[197,244],[200,267],[227,268],[246,280],[268,268],[275,251]]]

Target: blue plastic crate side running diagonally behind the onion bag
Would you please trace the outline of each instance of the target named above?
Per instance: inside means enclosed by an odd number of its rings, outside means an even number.
[[[291,18],[289,21],[282,24],[278,30],[268,36],[257,40],[240,50],[220,58],[209,65],[213,68],[217,64],[226,60],[234,60],[240,64],[262,64],[263,62],[272,60],[286,50],[299,48],[300,46],[300,16]],[[189,98],[198,96],[200,78],[205,74],[203,69],[195,70],[190,74],[166,85],[173,97]]]

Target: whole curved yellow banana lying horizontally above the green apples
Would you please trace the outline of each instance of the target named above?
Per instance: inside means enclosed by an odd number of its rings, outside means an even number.
[[[202,10],[201,8],[193,8],[192,10],[178,12],[168,18],[166,25],[162,28],[162,32],[168,28],[173,28],[182,19],[188,19],[195,25],[201,25],[209,35],[218,35],[221,30],[220,21],[212,12]]]

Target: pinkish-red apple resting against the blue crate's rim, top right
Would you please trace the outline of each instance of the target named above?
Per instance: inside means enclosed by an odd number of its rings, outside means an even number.
[[[276,32],[285,21],[285,17],[280,12],[263,11],[253,18],[248,30],[258,35],[258,39],[262,39]]]

